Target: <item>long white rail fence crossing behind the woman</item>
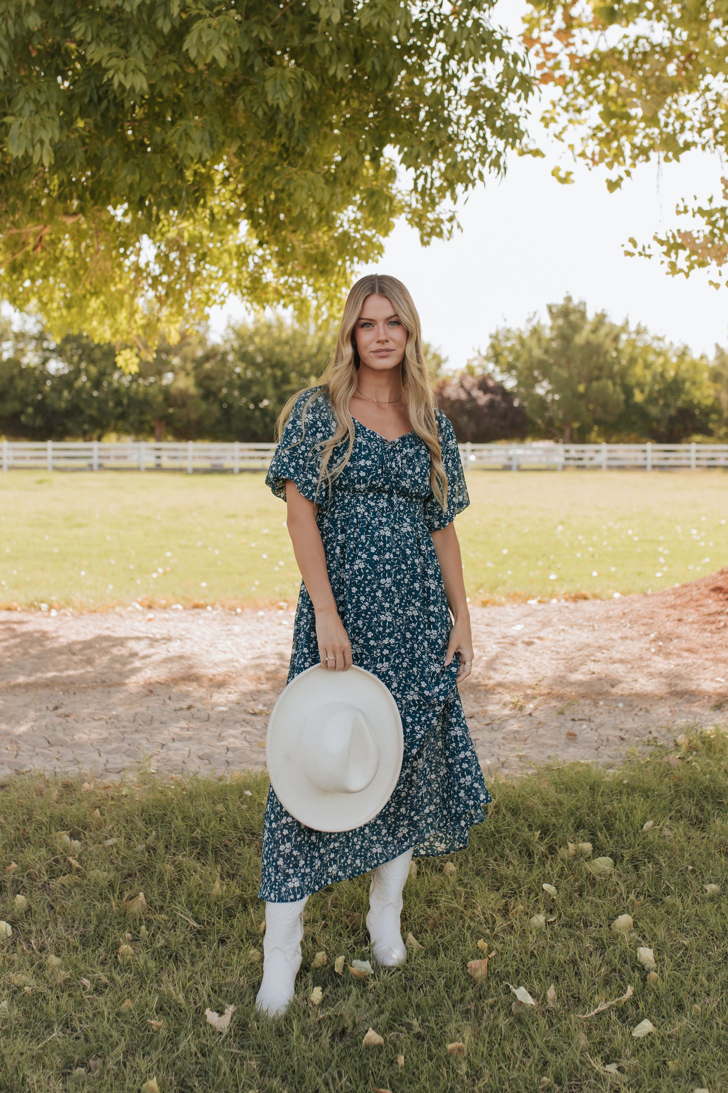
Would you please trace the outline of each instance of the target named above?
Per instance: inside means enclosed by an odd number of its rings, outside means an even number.
[[[522,468],[563,470],[661,470],[663,468],[728,468],[728,444],[461,444],[466,469],[517,471]],[[274,444],[128,444],[99,442],[13,442],[0,448],[2,470],[266,470]]]

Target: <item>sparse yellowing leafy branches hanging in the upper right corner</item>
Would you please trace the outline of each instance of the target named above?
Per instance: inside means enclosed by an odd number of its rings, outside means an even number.
[[[529,0],[524,43],[553,91],[542,120],[574,156],[609,172],[618,189],[653,156],[728,150],[728,9],[725,0]],[[560,181],[569,174],[554,168]],[[709,269],[728,284],[728,179],[723,193],[685,198],[677,213],[696,226],[655,235],[669,273]],[[630,239],[648,257],[649,244]]]

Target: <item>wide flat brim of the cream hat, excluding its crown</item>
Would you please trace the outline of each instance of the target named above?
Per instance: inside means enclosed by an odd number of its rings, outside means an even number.
[[[301,712],[329,702],[359,706],[380,749],[372,781],[357,794],[329,792],[310,780],[300,760]],[[402,718],[392,692],[377,675],[354,665],[332,672],[313,665],[296,675],[273,707],[265,760],[276,797],[299,823],[314,831],[353,831],[378,815],[399,779],[404,755]]]

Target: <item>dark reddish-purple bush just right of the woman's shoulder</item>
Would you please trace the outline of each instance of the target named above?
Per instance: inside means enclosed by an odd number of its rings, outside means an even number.
[[[438,404],[455,430],[461,444],[488,444],[523,437],[528,421],[513,393],[488,373],[441,379],[434,388]]]

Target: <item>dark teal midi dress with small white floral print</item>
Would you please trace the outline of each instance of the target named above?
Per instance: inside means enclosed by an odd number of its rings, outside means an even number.
[[[314,398],[301,422],[302,409]],[[374,869],[405,850],[415,857],[467,846],[472,824],[490,801],[468,732],[455,677],[445,667],[452,620],[431,531],[469,504],[453,427],[438,410],[447,474],[443,512],[430,489],[430,453],[410,432],[395,440],[355,421],[351,457],[329,491],[317,491],[320,448],[335,430],[322,387],[299,396],[271,462],[266,483],[285,500],[291,479],[319,504],[317,524],[331,587],[354,663],[394,695],[404,729],[404,761],[392,797],[369,823],[321,832],[295,820],[268,791],[263,825],[261,900],[301,900],[333,881]],[[342,450],[343,450],[342,445]],[[337,462],[335,449],[332,466]],[[301,583],[288,682],[320,663],[315,616]]]

